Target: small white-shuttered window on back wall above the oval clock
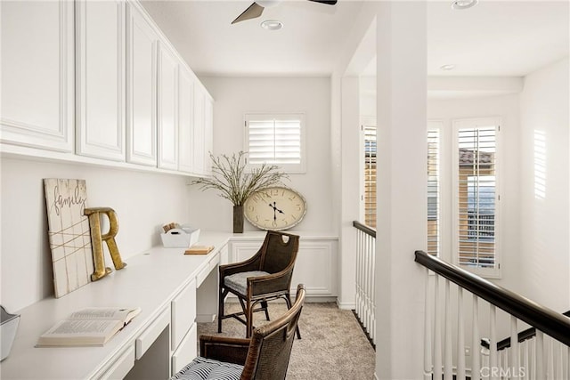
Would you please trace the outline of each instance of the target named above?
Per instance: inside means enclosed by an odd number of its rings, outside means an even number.
[[[245,117],[248,166],[276,165],[305,172],[305,115],[248,114]]]

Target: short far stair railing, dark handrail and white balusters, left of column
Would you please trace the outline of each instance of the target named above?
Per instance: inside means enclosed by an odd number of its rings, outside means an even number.
[[[376,304],[374,270],[376,265],[376,230],[361,222],[356,229],[356,307],[354,313],[372,344],[376,344]]]

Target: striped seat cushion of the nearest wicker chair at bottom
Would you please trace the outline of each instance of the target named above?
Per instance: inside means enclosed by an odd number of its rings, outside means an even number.
[[[170,380],[240,380],[243,366],[198,357]]]

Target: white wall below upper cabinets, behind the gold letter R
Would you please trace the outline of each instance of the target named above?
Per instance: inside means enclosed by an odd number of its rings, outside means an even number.
[[[182,176],[2,158],[1,178],[0,303],[9,311],[53,295],[43,178],[85,179],[87,206],[109,206],[117,212],[124,271],[130,256],[159,244],[159,226],[186,219]]]

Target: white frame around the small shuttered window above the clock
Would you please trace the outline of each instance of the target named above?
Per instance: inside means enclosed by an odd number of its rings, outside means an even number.
[[[282,164],[273,163],[271,161],[265,162],[267,165],[275,165],[279,167],[279,170],[288,174],[305,174],[306,173],[306,148],[305,148],[305,130],[306,130],[306,115],[305,112],[246,112],[244,114],[244,134],[243,134],[243,147],[244,151],[249,152],[249,122],[252,120],[261,119],[276,119],[281,118],[283,120],[298,120],[300,125],[300,162],[298,164]],[[249,158],[246,158],[246,168],[249,170],[254,167],[259,167],[262,164],[251,164]]]

